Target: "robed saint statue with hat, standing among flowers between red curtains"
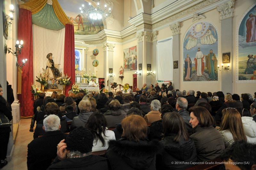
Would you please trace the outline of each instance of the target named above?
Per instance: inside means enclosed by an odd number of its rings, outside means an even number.
[[[61,79],[61,73],[58,69],[60,64],[54,64],[52,60],[52,53],[47,54],[46,58],[48,58],[48,61],[45,69],[45,78],[47,81],[54,78],[58,84]]]

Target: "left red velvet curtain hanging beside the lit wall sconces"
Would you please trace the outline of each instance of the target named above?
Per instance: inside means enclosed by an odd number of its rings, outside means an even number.
[[[34,97],[31,94],[31,83],[33,83],[33,36],[32,36],[32,15],[31,11],[19,9],[18,20],[18,40],[23,40],[21,54],[18,55],[18,63],[27,58],[28,61],[22,67],[21,94],[18,95],[20,101],[20,116],[33,116]]]

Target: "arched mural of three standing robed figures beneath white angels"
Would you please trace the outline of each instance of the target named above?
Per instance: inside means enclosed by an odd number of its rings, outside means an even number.
[[[183,41],[183,81],[218,81],[218,32],[207,21],[193,24]]]

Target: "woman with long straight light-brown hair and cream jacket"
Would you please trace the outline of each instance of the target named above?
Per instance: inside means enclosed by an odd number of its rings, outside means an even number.
[[[220,133],[225,143],[225,148],[234,141],[247,141],[240,113],[235,108],[226,108],[222,111]]]

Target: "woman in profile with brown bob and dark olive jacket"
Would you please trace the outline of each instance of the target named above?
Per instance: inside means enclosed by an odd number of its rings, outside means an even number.
[[[212,160],[222,153],[225,149],[220,132],[213,128],[213,118],[209,111],[201,106],[189,108],[190,121],[192,125],[192,135],[196,152],[197,161],[204,162]]]

